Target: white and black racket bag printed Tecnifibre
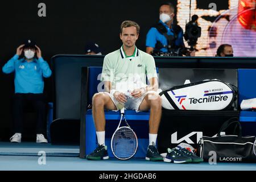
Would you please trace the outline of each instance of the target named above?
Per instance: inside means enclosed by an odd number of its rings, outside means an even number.
[[[162,106],[175,110],[225,110],[236,100],[237,88],[221,80],[205,80],[160,92]]]

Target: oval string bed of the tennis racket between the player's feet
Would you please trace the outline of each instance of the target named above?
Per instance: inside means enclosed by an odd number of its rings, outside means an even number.
[[[119,159],[129,159],[137,149],[137,138],[133,130],[128,127],[118,129],[112,141],[113,153]]]

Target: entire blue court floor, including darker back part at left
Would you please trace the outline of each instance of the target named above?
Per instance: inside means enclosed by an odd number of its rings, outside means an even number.
[[[46,152],[46,164],[39,164]],[[79,158],[79,146],[61,146],[34,142],[0,142],[0,171],[256,171],[254,163],[173,164],[130,160],[86,160]]]

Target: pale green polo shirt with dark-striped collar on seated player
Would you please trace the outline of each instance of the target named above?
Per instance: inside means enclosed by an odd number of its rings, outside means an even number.
[[[135,47],[134,53],[127,56],[123,47],[104,58],[101,81],[112,82],[112,89],[130,89],[131,86],[146,86],[148,79],[157,77],[154,57]]]

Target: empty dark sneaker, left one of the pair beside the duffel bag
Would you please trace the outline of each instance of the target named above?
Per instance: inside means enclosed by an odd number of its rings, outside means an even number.
[[[179,148],[167,148],[167,155],[164,158],[164,162],[167,163],[191,163],[190,157],[186,156],[179,150]]]

